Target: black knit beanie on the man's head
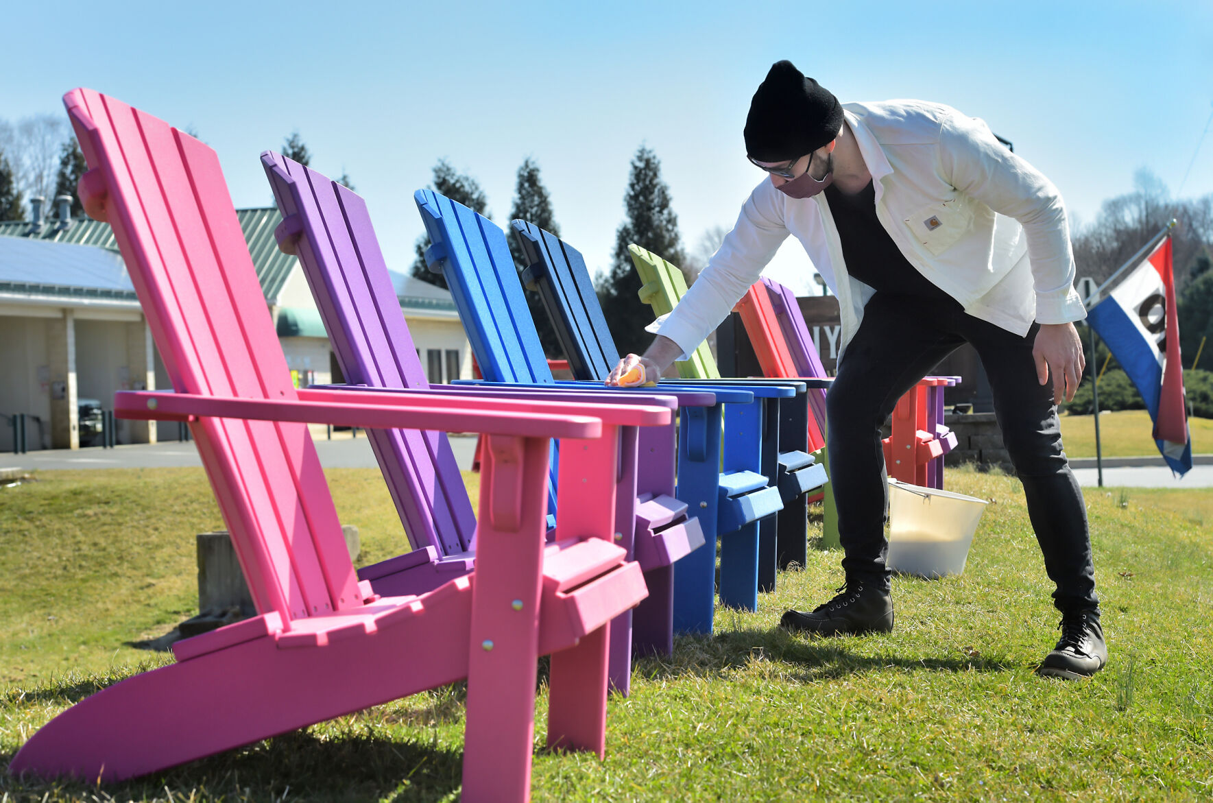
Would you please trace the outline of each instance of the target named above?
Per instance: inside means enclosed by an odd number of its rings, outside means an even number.
[[[828,144],[842,129],[842,103],[830,90],[775,62],[750,101],[746,153],[758,161],[786,161]]]

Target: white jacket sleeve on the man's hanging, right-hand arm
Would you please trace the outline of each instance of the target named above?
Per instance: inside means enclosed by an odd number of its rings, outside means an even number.
[[[1070,224],[1057,187],[995,138],[983,120],[949,115],[940,129],[940,164],[956,189],[1024,227],[1036,294],[1036,320],[1064,324],[1087,317],[1074,289]]]

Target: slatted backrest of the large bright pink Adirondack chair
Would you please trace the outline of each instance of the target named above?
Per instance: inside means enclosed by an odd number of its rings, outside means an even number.
[[[215,152],[90,90],[64,102],[173,388],[295,398]],[[360,604],[307,427],[193,428],[258,610],[289,621]]]

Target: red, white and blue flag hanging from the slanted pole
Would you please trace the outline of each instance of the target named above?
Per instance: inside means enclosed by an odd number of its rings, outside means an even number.
[[[1087,323],[1104,338],[1145,400],[1163,460],[1172,471],[1186,474],[1192,467],[1192,440],[1184,402],[1169,234],[1111,295],[1090,308]]]

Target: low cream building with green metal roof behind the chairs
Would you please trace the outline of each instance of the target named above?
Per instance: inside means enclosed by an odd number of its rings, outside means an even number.
[[[96,438],[80,409],[113,406],[121,389],[171,387],[108,223],[70,217],[70,199],[32,220],[0,222],[0,452],[7,416],[23,412],[29,449],[75,449]],[[307,279],[278,250],[274,207],[237,210],[266,306],[300,386],[341,381]],[[393,274],[400,307],[432,382],[471,377],[471,347],[450,294]],[[176,439],[175,423],[116,422],[118,443]],[[99,444],[99,440],[98,440]]]

